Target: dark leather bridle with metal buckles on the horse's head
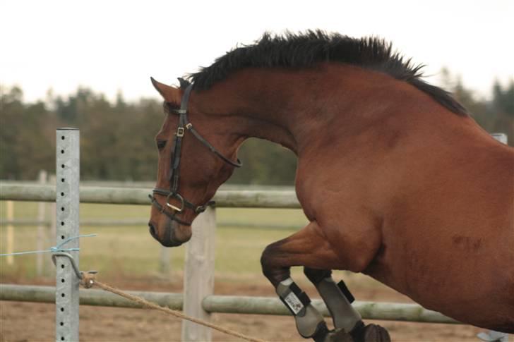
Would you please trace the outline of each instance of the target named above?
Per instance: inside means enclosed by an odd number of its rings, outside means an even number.
[[[193,134],[193,136],[198,139],[203,145],[208,147],[210,152],[213,152],[217,155],[217,157],[220,157],[222,161],[225,161],[225,163],[230,164],[234,167],[241,167],[241,161],[237,159],[237,161],[232,161],[225,157],[223,154],[221,154],[213,145],[211,145],[207,140],[205,140],[198,131],[193,128],[193,124],[189,122],[189,119],[187,118],[187,106],[189,102],[189,96],[191,95],[191,90],[193,90],[193,85],[189,85],[186,90],[184,91],[184,94],[182,95],[181,103],[180,103],[180,109],[172,109],[172,114],[177,114],[179,116],[179,126],[177,127],[177,132],[175,135],[174,140],[174,147],[173,147],[173,154],[172,154],[172,160],[169,165],[169,190],[162,189],[162,188],[155,188],[152,190],[152,195],[148,195],[150,197],[150,200],[152,201],[152,204],[159,209],[160,212],[165,214],[169,217],[169,219],[172,219],[173,221],[177,221],[179,224],[184,226],[191,226],[191,222],[182,221],[177,217],[177,214],[180,214],[184,211],[184,209],[191,209],[196,214],[200,214],[201,212],[205,212],[205,209],[207,209],[208,206],[213,205],[214,201],[209,201],[203,205],[196,205],[193,204],[187,200],[184,199],[179,194],[179,178],[180,178],[180,158],[181,158],[181,150],[182,150],[182,140],[184,139],[184,134],[186,133],[186,130],[189,130]],[[159,202],[157,202],[157,199],[155,198],[155,194],[166,196],[166,204],[161,205]],[[175,198],[180,201],[180,207],[177,207],[173,204],[169,203],[170,198]],[[169,207],[170,209],[173,209],[174,212],[170,213],[166,210],[166,207]]]

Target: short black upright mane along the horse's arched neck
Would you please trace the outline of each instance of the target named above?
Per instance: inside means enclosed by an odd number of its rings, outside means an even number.
[[[255,44],[232,49],[208,67],[189,75],[195,90],[208,90],[230,73],[241,68],[309,68],[316,63],[331,61],[369,68],[404,80],[426,92],[450,111],[467,115],[466,109],[450,93],[421,79],[423,65],[393,51],[392,44],[376,37],[355,39],[321,30],[283,36],[265,33]],[[181,82],[182,83],[182,82]],[[181,84],[182,87],[186,82]]]

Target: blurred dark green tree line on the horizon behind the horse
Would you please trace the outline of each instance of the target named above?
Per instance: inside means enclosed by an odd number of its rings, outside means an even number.
[[[472,112],[488,132],[502,132],[514,141],[514,81],[495,83],[493,98],[480,99],[459,78],[443,71],[446,89]],[[0,179],[35,180],[39,170],[55,169],[55,130],[80,129],[80,173],[83,180],[153,181],[157,150],[153,140],[163,120],[162,102],[126,102],[121,94],[109,101],[80,87],[67,97],[25,102],[19,87],[1,87]],[[229,183],[292,185],[296,157],[263,140],[241,147],[244,167]]]

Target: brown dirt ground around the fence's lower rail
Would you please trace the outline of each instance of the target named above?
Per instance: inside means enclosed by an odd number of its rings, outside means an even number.
[[[2,279],[3,282],[8,279]],[[52,285],[51,280],[36,281]],[[107,282],[107,281],[106,281]],[[32,281],[31,283],[35,283]],[[109,279],[119,288],[136,291],[181,291],[181,282],[167,283],[156,279]],[[318,296],[307,291],[311,298]],[[353,291],[359,300],[407,302],[410,300],[388,288],[376,291]],[[215,282],[215,293],[220,295],[265,295],[273,290],[261,281],[254,285]],[[327,322],[329,320],[327,319]],[[301,338],[292,317],[249,314],[213,314],[213,322],[268,341],[307,341]],[[371,321],[368,321],[371,322]],[[393,341],[450,341],[477,342],[482,329],[457,324],[424,324],[404,322],[375,322],[390,331]],[[54,341],[54,305],[42,303],[0,302],[1,342]],[[161,312],[152,310],[122,309],[113,307],[80,306],[80,341],[180,341],[181,322]],[[511,337],[512,338],[512,337]],[[241,341],[213,331],[213,341]]]

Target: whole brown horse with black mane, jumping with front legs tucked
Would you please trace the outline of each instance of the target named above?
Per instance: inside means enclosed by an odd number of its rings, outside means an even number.
[[[298,157],[310,223],[269,245],[261,263],[302,336],[388,340],[361,323],[331,269],[513,333],[514,150],[420,76],[380,39],[316,31],[264,35],[180,88],[153,80],[168,115],[150,233],[166,246],[189,240],[191,221],[239,166],[241,143],[263,138]],[[290,279],[293,266],[316,285],[335,331]]]

